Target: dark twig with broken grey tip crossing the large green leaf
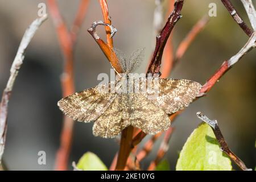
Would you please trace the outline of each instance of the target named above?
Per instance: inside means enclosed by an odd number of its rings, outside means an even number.
[[[218,127],[217,120],[209,119],[206,115],[204,115],[201,112],[196,113],[197,117],[207,123],[213,130],[213,133],[218,140],[218,143],[220,143],[220,149],[221,151],[225,152],[226,155],[228,155],[236,164],[238,167],[240,167],[243,171],[251,171],[251,169],[247,168],[245,166],[245,163],[242,162],[240,158],[238,158],[228,147],[228,144],[226,143],[220,127]]]

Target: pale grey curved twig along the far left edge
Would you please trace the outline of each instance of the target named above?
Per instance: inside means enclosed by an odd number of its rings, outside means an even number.
[[[27,28],[20,42],[18,52],[16,53],[16,56],[13,61],[13,65],[11,65],[10,77],[7,82],[6,88],[5,90],[3,90],[2,100],[0,103],[0,164],[2,161],[3,152],[5,150],[8,103],[11,97],[11,92],[13,91],[14,82],[16,77],[18,76],[19,69],[23,64],[24,52],[26,51],[28,44],[31,42],[31,39],[35,35],[35,32],[38,30],[40,25],[46,19],[47,19],[47,15],[44,15],[41,18],[35,19],[34,22],[30,24],[30,27]]]

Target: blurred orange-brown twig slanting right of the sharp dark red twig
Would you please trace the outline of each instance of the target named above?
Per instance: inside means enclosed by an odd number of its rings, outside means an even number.
[[[205,25],[209,22],[208,16],[203,16],[189,31],[188,35],[181,41],[179,44],[175,59],[174,59],[174,65],[177,64],[177,62],[181,59],[181,57],[184,55],[185,51],[187,51],[189,45],[193,42],[193,40],[196,38],[196,36],[199,34],[200,31],[203,30]]]

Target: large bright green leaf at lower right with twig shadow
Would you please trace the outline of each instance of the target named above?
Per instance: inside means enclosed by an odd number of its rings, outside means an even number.
[[[231,171],[231,161],[220,150],[215,135],[203,123],[187,139],[177,160],[177,171]]]

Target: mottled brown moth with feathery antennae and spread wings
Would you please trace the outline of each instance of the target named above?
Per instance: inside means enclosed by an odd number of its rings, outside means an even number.
[[[191,80],[138,77],[131,82],[129,73],[141,63],[143,49],[134,51],[128,61],[118,49],[114,52],[124,73],[119,80],[72,94],[57,103],[73,120],[94,121],[95,136],[113,138],[130,125],[152,135],[165,131],[171,125],[169,115],[187,107],[199,94],[201,85]]]

